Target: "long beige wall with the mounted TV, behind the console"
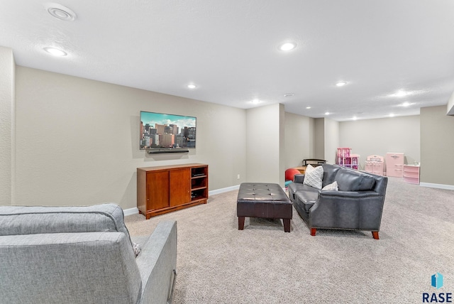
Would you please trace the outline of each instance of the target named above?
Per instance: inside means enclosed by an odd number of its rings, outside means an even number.
[[[16,86],[19,205],[132,208],[144,166],[207,163],[210,190],[245,181],[244,109],[26,67],[16,67]],[[140,151],[140,110],[196,116],[196,149]]]

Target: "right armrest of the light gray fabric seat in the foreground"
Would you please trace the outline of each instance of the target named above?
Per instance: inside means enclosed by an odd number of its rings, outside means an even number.
[[[140,303],[171,303],[177,270],[177,222],[159,222],[136,262],[142,278]]]

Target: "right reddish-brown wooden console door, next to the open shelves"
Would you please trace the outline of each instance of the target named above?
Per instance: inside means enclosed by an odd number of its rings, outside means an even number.
[[[191,201],[191,169],[170,171],[170,207]]]

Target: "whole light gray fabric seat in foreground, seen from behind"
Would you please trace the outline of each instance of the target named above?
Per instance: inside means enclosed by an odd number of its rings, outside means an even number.
[[[0,206],[0,303],[167,303],[177,222],[135,256],[118,205]]]

